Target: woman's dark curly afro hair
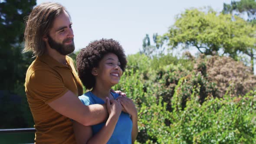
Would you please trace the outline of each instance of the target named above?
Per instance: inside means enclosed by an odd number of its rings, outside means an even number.
[[[107,53],[114,53],[118,56],[121,69],[125,71],[127,64],[125,52],[122,46],[113,39],[101,39],[89,43],[86,48],[81,49],[76,57],[76,66],[79,78],[87,89],[95,85],[95,77],[92,69],[98,67],[98,63]]]

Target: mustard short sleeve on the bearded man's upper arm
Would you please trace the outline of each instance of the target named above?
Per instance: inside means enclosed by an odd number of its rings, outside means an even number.
[[[31,95],[35,95],[46,104],[69,91],[65,87],[61,76],[57,72],[50,70],[35,71],[30,76],[27,89]]]

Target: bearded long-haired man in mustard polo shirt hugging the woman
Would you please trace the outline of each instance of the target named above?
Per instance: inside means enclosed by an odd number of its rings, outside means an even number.
[[[30,13],[25,49],[36,59],[26,73],[25,91],[32,112],[35,143],[75,144],[72,121],[88,126],[108,117],[105,105],[85,106],[82,83],[70,57],[74,35],[69,13],[59,3],[42,3]],[[106,100],[109,102],[109,100]]]

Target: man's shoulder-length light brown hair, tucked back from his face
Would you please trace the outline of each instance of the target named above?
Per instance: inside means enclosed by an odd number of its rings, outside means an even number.
[[[65,7],[52,2],[41,3],[32,10],[26,20],[23,52],[32,51],[34,57],[42,56],[45,53],[46,44],[43,41],[43,36],[49,34],[53,21],[63,11],[67,12]]]

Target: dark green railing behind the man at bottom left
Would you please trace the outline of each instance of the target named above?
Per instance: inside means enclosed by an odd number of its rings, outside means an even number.
[[[0,144],[33,144],[35,128],[0,129]]]

